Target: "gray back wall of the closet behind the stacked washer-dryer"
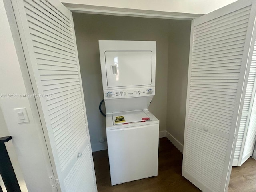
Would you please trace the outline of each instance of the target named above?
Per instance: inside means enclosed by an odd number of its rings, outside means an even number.
[[[166,130],[169,20],[79,13],[73,18],[93,150],[99,138],[106,138],[98,110],[103,99],[98,40],[156,41],[156,95],[149,110],[160,120],[160,131]]]

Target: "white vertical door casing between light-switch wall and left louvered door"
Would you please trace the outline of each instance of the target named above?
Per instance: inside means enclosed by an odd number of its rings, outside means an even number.
[[[10,0],[3,0],[3,4],[4,4],[4,8],[6,11],[7,18],[8,18],[11,36],[12,36],[12,40],[13,40],[16,54],[17,54],[16,57],[18,58],[20,70],[22,73],[22,78],[23,78],[24,85],[26,88],[26,94],[33,95],[34,90],[32,87],[32,81],[30,79],[30,74],[28,72],[28,66],[27,66],[27,62],[26,62],[26,58],[25,58],[25,54],[24,54],[24,49],[22,47],[21,37],[20,37],[19,30],[18,30],[17,18],[14,14],[15,6],[12,4],[12,2]],[[42,119],[39,116],[39,110],[38,110],[38,105],[36,102],[36,97],[28,97],[28,101],[30,104],[30,109],[33,113],[33,116],[29,117],[30,122],[34,123],[34,125],[35,125],[34,128],[35,128],[35,130],[37,132],[37,136],[40,140],[39,141],[40,146],[41,146],[40,149],[42,150],[42,153],[43,153],[42,156],[44,157],[44,161],[45,161],[44,168],[46,168],[46,170],[48,172],[48,176],[49,176],[48,181],[49,181],[50,188],[52,188],[52,185],[55,183],[55,181],[51,180],[52,176],[54,176],[55,164],[52,162],[51,149],[48,147],[47,137],[45,136],[46,133],[44,132],[44,129],[42,128]],[[22,104],[21,104],[21,106],[22,106]],[[28,132],[28,134],[30,134],[30,132]],[[17,150],[17,151],[19,151],[19,150]],[[30,156],[28,156],[28,158],[30,158]],[[34,171],[38,172],[38,170],[34,170]],[[25,185],[26,185],[26,180],[25,180]],[[52,191],[58,192],[58,189],[52,188]]]

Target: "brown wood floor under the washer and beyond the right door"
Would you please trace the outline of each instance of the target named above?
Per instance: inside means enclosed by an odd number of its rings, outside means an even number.
[[[182,177],[182,153],[167,139],[159,140],[158,176],[111,186],[108,150],[93,152],[98,192],[200,192]],[[228,192],[256,192],[256,160],[234,167]]]

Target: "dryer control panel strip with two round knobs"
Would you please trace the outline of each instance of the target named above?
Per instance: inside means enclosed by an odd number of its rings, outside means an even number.
[[[104,99],[119,99],[155,95],[155,87],[104,90]]]

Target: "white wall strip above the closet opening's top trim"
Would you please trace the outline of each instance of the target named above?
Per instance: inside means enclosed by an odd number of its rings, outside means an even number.
[[[64,4],[81,4],[137,10],[207,14],[236,0],[60,0]]]

